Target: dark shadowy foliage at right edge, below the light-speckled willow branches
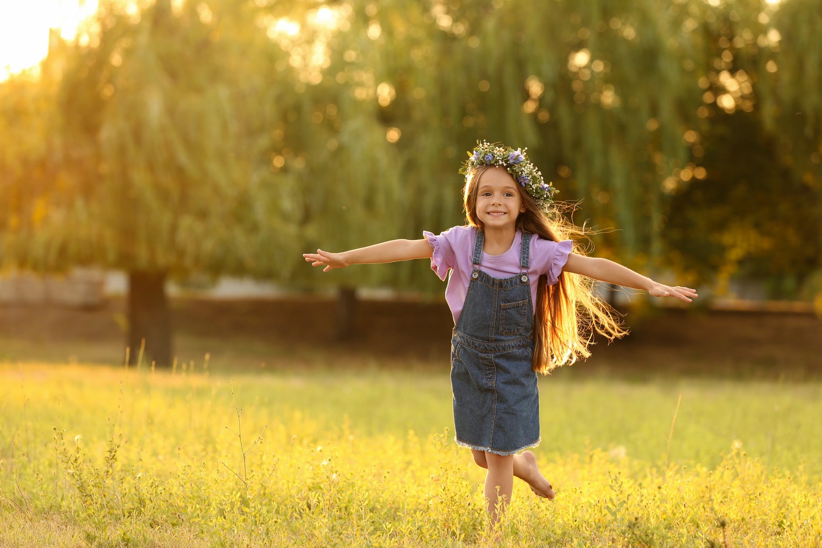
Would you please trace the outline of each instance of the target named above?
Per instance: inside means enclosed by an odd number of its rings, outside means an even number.
[[[672,265],[695,279],[778,281],[770,298],[797,298],[819,268],[819,195],[796,182],[756,113],[717,113],[701,135],[708,175],[677,190],[665,237]],[[755,154],[752,154],[755,152]],[[735,161],[746,159],[746,161]]]

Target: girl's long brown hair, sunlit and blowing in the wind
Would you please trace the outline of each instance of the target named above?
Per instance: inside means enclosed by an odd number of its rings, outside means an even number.
[[[483,230],[483,222],[477,216],[477,194],[479,179],[491,166],[480,166],[469,170],[465,176],[463,206],[470,226]],[[516,219],[516,228],[524,232],[538,234],[546,240],[563,240],[587,237],[583,229],[575,226],[563,215],[567,205],[553,205],[552,212],[546,214],[528,192],[520,190],[524,213]],[[575,241],[573,251],[584,255],[584,250]],[[548,285],[545,274],[539,277],[537,285],[536,315],[534,317],[533,371],[547,375],[554,367],[570,365],[579,358],[591,355],[589,346],[593,344],[596,331],[609,341],[626,335],[617,311],[594,292],[594,281],[585,276],[561,272],[556,283]]]

